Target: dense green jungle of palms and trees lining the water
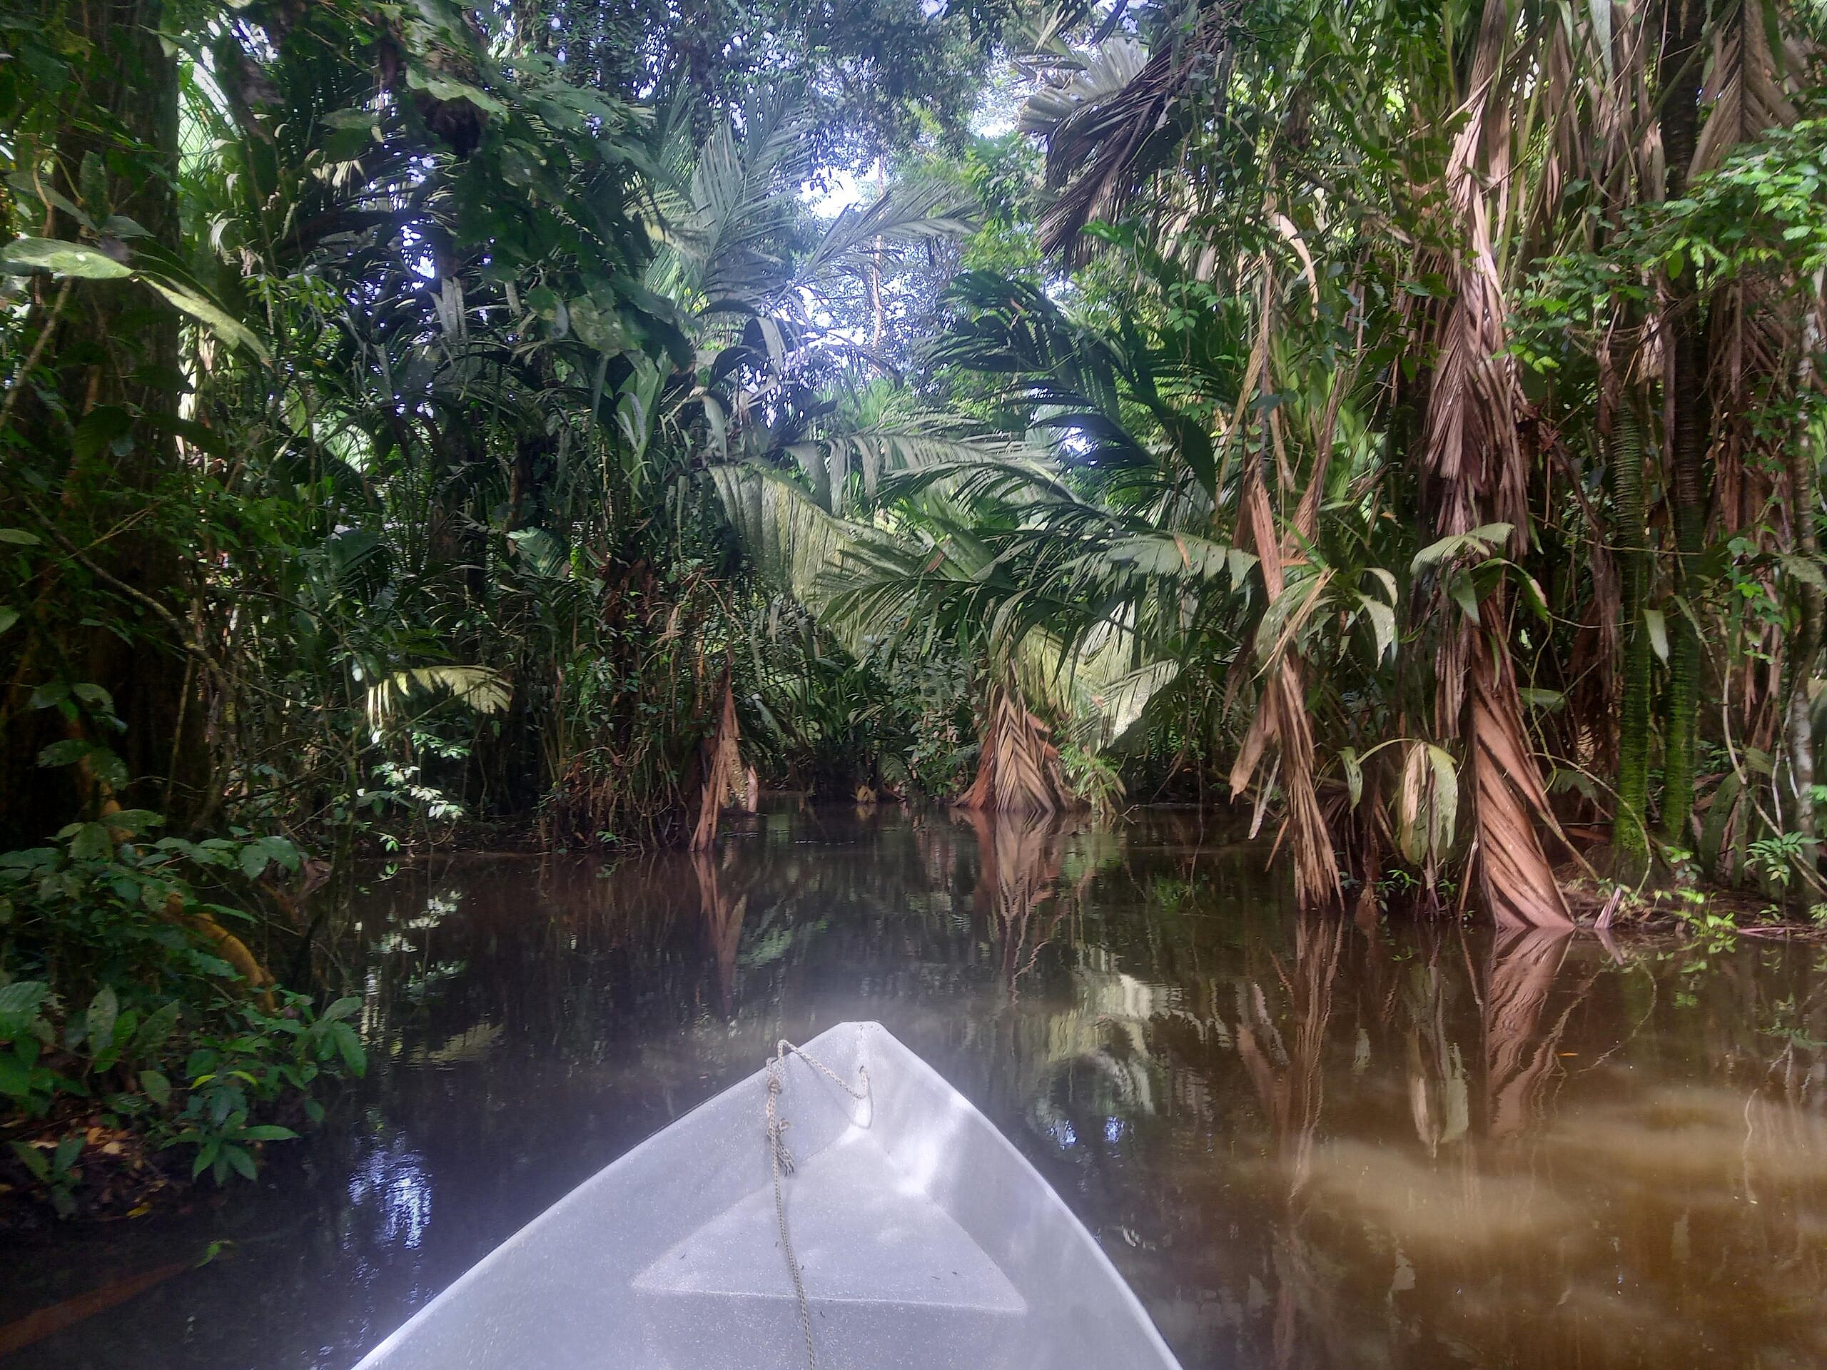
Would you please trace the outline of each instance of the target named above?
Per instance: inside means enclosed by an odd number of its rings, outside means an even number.
[[[0,1182],[252,1173],[349,857],[762,785],[1827,910],[1818,0],[0,33]]]

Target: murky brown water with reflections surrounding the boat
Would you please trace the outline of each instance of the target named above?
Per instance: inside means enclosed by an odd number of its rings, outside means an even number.
[[[1827,1363],[1827,955],[1367,933],[1261,862],[1191,815],[884,811],[400,875],[360,910],[369,1080],[258,1187],[15,1244],[0,1323],[230,1242],[7,1365],[349,1366],[846,1017],[1003,1127],[1188,1370]]]

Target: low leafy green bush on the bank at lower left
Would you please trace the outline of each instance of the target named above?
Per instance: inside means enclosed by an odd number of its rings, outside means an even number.
[[[201,893],[296,869],[298,849],[157,824],[121,811],[0,855],[0,1134],[60,1213],[99,1134],[190,1149],[192,1178],[252,1176],[259,1143],[296,1136],[274,1116],[316,1122],[314,1083],[365,1067],[360,999],[316,1012],[261,983],[228,930],[254,917]]]

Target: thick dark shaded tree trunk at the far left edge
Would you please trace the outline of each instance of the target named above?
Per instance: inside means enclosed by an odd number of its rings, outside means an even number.
[[[119,250],[175,252],[179,91],[177,66],[159,38],[161,0],[66,4],[48,22],[79,38],[86,60],[62,93],[53,144],[24,148],[22,161],[51,161],[51,184],[104,225],[104,247],[106,219],[124,216],[146,237],[128,237]],[[80,236],[62,210],[48,212],[38,228]],[[190,595],[174,521],[188,501],[172,488],[172,418],[185,385],[179,318],[133,281],[69,287],[64,294],[62,283],[35,281],[37,331],[53,331],[37,374],[20,378],[20,404],[0,433],[13,468],[0,513],[42,543],[35,601],[0,652],[4,844],[42,838],[80,806],[106,798],[86,769],[40,769],[37,754],[49,742],[79,736],[119,753],[128,806],[157,807],[168,787],[192,800],[206,775],[203,711],[183,707]],[[55,402],[40,391],[55,391]],[[100,722],[93,694],[82,707],[35,707],[33,690],[73,685],[108,690],[126,731],[115,736]]]

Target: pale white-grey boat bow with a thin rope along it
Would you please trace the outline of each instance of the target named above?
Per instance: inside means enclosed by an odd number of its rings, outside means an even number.
[[[1177,1370],[1060,1196],[886,1028],[842,1023],[804,1056],[837,1078],[789,1054],[778,1100],[822,1370]],[[766,1111],[762,1070],[561,1198],[360,1370],[800,1370]]]

